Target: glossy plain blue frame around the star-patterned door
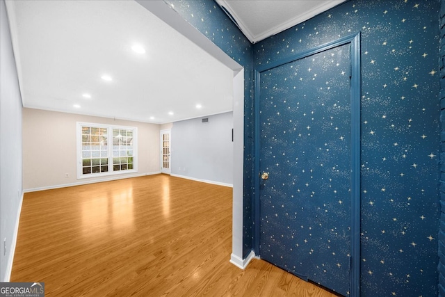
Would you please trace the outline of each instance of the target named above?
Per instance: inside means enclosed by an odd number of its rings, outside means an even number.
[[[254,70],[254,252],[259,254],[259,236],[260,236],[260,202],[259,202],[259,185],[260,185],[260,164],[259,164],[259,147],[261,139],[260,127],[260,106],[259,94],[261,86],[261,72],[265,72],[272,68],[290,63],[293,61],[306,58],[318,54],[334,47],[350,44],[350,125],[351,125],[351,217],[350,217],[350,296],[357,297],[360,294],[360,99],[362,95],[362,79],[360,64],[360,32],[348,35],[324,45],[314,47],[299,54],[284,58],[270,63],[261,65]],[[257,175],[258,174],[258,175]]]

